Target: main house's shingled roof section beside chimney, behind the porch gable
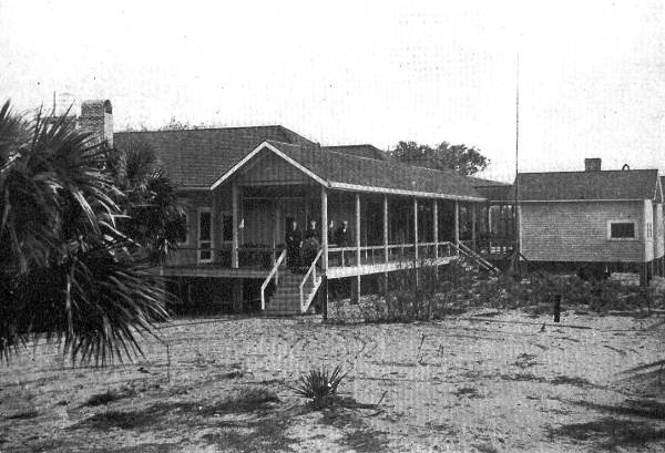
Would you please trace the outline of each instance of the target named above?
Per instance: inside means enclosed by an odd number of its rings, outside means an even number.
[[[164,169],[182,187],[207,188],[265,140],[314,146],[284,126],[223,127],[176,131],[116,132],[119,150],[132,142],[150,145]]]

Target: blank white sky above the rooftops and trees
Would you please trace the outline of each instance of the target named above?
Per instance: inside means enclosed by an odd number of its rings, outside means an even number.
[[[521,172],[665,169],[665,2],[0,0],[0,99],[109,99],[116,131],[447,141],[510,182],[518,86]]]

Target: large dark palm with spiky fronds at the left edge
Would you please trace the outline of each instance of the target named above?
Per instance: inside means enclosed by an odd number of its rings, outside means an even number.
[[[126,195],[103,145],[63,115],[0,109],[0,357],[44,336],[72,360],[132,358],[167,294],[119,228]]]

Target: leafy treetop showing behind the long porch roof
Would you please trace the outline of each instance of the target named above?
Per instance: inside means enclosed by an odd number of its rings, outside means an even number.
[[[433,148],[416,142],[399,142],[391,155],[410,165],[434,169],[450,168],[464,176],[482,172],[490,164],[490,161],[474,146],[451,145],[448,142],[441,142]]]

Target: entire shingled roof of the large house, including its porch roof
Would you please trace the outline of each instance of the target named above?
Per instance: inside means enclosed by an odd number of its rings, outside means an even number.
[[[117,148],[132,142],[152,146],[168,175],[184,188],[211,188],[267,142],[330,187],[483,199],[466,177],[452,171],[413,167],[355,152],[371,145],[334,151],[339,147],[321,147],[283,126],[120,132],[114,141]]]

